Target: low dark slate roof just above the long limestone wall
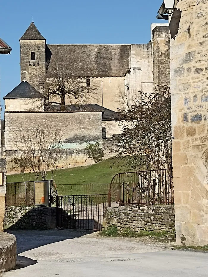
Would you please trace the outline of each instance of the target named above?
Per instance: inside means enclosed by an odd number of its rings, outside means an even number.
[[[52,111],[60,111],[61,107],[60,105],[50,105],[49,107]],[[93,112],[103,112],[103,120],[115,120],[119,119],[119,113],[109,110],[107,108],[104,108],[97,104],[72,104],[72,105],[66,105],[66,111],[93,111]]]

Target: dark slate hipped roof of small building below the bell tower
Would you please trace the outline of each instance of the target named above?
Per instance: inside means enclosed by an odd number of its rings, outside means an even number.
[[[11,98],[44,98],[44,96],[24,80],[3,97],[3,99]]]

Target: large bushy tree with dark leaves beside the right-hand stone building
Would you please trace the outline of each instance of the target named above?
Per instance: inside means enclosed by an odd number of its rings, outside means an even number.
[[[170,168],[170,89],[160,87],[152,93],[141,92],[133,102],[119,109],[122,134],[115,138],[116,157],[124,160],[129,169]]]

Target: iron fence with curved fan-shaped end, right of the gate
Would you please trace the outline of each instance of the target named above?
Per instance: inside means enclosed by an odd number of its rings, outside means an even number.
[[[172,180],[172,169],[116,174],[111,181],[108,205],[173,204]]]

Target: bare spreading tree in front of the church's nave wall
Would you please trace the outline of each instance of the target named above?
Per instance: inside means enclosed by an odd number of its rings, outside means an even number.
[[[74,76],[72,65],[64,63],[54,63],[48,65],[50,77],[46,78],[44,91],[48,104],[59,104],[61,110],[65,110],[66,99],[70,104],[84,104],[97,99],[97,87],[88,83],[86,78]]]

